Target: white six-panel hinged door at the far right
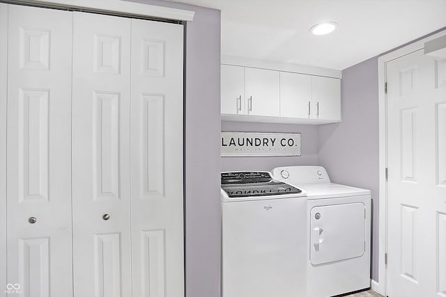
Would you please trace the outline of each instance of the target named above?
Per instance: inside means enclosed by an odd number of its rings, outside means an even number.
[[[387,63],[390,297],[446,296],[446,59]]]

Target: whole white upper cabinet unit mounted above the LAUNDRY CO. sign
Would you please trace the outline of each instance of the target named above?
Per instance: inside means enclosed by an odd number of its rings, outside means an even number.
[[[237,61],[222,65],[222,120],[311,125],[341,121],[341,72]]]

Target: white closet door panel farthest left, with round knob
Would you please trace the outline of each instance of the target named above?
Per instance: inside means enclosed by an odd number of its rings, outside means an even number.
[[[72,13],[8,10],[8,283],[72,296]]]

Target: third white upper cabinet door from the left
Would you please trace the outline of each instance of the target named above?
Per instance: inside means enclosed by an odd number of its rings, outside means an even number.
[[[280,116],[309,118],[312,102],[312,77],[280,72]]]

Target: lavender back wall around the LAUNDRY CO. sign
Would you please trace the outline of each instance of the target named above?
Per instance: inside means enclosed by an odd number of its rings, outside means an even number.
[[[278,166],[317,164],[318,130],[316,126],[254,122],[222,122],[222,131],[300,133],[302,143],[302,156],[222,156],[222,171],[269,171]]]

